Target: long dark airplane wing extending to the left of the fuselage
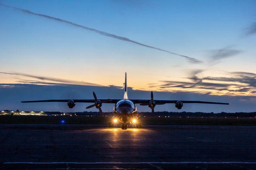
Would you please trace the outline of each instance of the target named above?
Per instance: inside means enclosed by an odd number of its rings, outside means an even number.
[[[49,100],[33,100],[33,101],[21,101],[22,103],[36,103],[36,102],[68,102],[74,101],[74,103],[94,103],[95,99],[49,99]],[[116,103],[122,99],[98,99],[102,103]]]

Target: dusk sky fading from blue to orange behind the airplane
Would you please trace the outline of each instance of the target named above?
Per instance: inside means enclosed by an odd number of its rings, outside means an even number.
[[[127,72],[128,87],[138,93],[230,99],[253,111],[255,6],[255,0],[0,0],[0,89],[119,88]]]

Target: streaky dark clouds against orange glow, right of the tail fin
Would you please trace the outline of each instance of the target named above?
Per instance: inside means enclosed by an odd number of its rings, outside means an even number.
[[[194,70],[190,77],[192,82],[160,81],[160,90],[190,91],[194,93],[216,95],[251,95],[256,96],[256,74],[248,72],[228,72],[228,77],[199,77],[202,70]]]

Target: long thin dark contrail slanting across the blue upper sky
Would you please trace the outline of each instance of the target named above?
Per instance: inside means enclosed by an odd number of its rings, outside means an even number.
[[[192,57],[188,57],[186,55],[180,55],[180,54],[177,54],[177,53],[174,53],[174,52],[171,52],[171,51],[167,51],[167,50],[164,50],[164,49],[160,49],[160,48],[157,48],[157,47],[152,47],[150,45],[139,43],[139,42],[130,40],[130,39],[125,38],[125,37],[116,36],[114,34],[110,34],[110,33],[107,33],[107,32],[100,31],[100,30],[96,30],[96,29],[93,29],[93,28],[89,28],[89,27],[86,27],[86,26],[75,24],[75,23],[70,22],[70,21],[62,20],[60,18],[55,18],[55,17],[52,17],[52,16],[44,15],[44,14],[34,13],[34,12],[29,11],[29,10],[25,10],[25,9],[22,9],[22,8],[17,8],[17,7],[14,7],[14,6],[8,6],[8,5],[5,5],[5,4],[2,4],[2,3],[0,3],[0,5],[8,7],[8,8],[12,8],[14,10],[18,10],[20,12],[24,12],[26,14],[31,14],[31,15],[35,15],[35,16],[44,17],[44,18],[48,18],[48,19],[55,20],[55,21],[58,21],[58,22],[63,22],[63,23],[66,23],[66,24],[70,24],[72,26],[76,26],[76,27],[79,27],[79,28],[83,28],[85,30],[90,30],[90,31],[96,32],[98,34],[101,34],[103,36],[108,36],[108,37],[115,38],[115,39],[118,39],[118,40],[135,43],[135,44],[138,44],[138,45],[142,45],[144,47],[157,49],[157,50],[164,51],[164,52],[167,52],[167,53],[170,53],[170,54],[173,54],[173,55],[178,55],[180,57],[184,57],[189,63],[203,63],[203,61],[201,61],[201,60],[198,60],[198,59],[195,59],[195,58],[192,58]]]

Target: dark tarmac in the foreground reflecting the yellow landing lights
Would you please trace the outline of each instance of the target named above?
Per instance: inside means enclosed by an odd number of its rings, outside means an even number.
[[[0,169],[256,169],[255,139],[255,126],[0,124]]]

